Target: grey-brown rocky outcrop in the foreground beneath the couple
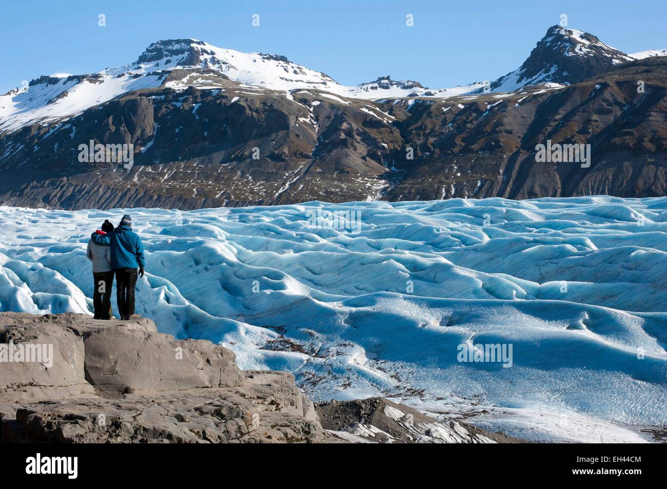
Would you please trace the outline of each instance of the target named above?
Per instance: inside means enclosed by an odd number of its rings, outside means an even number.
[[[231,350],[175,340],[145,318],[2,312],[0,359],[0,443],[513,440],[423,415],[415,422],[394,403],[390,438],[355,436],[365,420],[354,416],[327,430],[292,374],[239,370]]]

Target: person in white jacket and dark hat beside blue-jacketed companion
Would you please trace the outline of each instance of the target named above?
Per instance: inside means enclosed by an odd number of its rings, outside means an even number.
[[[113,231],[113,224],[105,220],[99,235],[105,235]],[[88,241],[86,256],[93,264],[93,307],[95,308],[95,319],[111,319],[111,288],[113,287],[113,269],[111,268],[111,248],[95,244],[91,239]]]

